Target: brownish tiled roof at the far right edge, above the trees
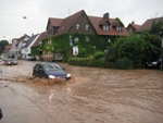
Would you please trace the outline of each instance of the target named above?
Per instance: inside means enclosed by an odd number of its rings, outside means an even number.
[[[163,17],[156,17],[156,19],[150,19],[147,20],[141,27],[138,29],[138,32],[143,32],[143,30],[150,30],[152,27],[153,22],[158,23],[160,21],[163,21]]]

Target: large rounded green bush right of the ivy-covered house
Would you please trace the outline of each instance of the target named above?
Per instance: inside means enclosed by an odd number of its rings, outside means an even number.
[[[158,59],[160,41],[159,37],[149,33],[117,38],[110,48],[106,62],[116,63],[125,59],[127,62],[130,60],[134,66],[142,65],[147,61]]]

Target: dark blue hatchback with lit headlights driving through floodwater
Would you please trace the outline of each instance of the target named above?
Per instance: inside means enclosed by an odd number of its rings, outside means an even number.
[[[45,78],[65,78],[66,81],[71,78],[71,74],[57,63],[37,63],[34,66],[33,75]]]

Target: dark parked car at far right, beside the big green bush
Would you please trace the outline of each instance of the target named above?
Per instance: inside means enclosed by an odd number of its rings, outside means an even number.
[[[147,62],[147,67],[160,69],[161,67],[161,59]]]

